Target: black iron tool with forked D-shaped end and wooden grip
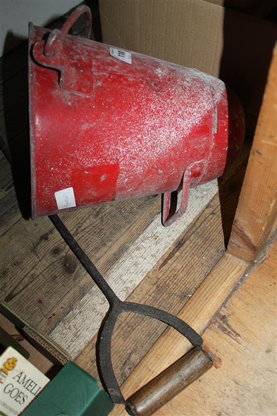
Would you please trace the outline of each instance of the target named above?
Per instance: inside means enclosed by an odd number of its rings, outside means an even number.
[[[61,219],[57,215],[50,215],[49,218],[110,304],[110,309],[98,334],[98,371],[104,388],[112,401],[124,404],[126,410],[132,416],[149,416],[212,367],[213,361],[202,347],[202,338],[188,324],[174,315],[151,306],[122,302],[75,241]],[[172,326],[193,345],[193,348],[187,354],[132,394],[127,400],[124,399],[121,393],[111,362],[112,333],[118,316],[123,312],[134,312],[158,319]]]

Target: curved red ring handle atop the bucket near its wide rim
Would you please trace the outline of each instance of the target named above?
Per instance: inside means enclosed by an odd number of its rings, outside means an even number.
[[[91,11],[88,6],[81,5],[78,6],[74,12],[66,19],[62,28],[60,30],[54,29],[48,36],[45,45],[44,45],[44,55],[45,56],[55,56],[55,46],[57,42],[62,42],[65,36],[68,34],[74,23],[79,17],[84,14],[86,15],[86,37],[90,38],[91,35],[91,26],[92,26],[92,16]]]

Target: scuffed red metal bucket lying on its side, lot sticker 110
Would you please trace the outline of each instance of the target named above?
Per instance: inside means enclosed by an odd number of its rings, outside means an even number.
[[[163,222],[189,188],[220,176],[244,117],[225,84],[195,69],[30,24],[33,218],[165,193]],[[170,193],[183,188],[168,219]]]

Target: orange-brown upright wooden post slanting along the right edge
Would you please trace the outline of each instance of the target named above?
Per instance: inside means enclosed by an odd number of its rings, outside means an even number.
[[[252,261],[263,247],[276,217],[277,44],[258,117],[228,252]]]

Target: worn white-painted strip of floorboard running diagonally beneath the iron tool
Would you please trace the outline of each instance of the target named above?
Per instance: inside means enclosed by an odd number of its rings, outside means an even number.
[[[148,228],[104,276],[123,301],[156,265],[178,236],[218,192],[217,180],[190,190],[186,212],[169,227],[163,227],[157,215]],[[63,318],[50,334],[73,358],[98,331],[108,310],[108,302],[94,286],[80,304]]]

